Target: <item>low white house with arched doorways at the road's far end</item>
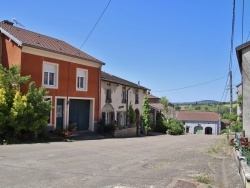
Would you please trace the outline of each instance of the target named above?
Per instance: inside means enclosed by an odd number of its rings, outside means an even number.
[[[176,118],[181,120],[186,134],[214,134],[221,131],[220,115],[215,112],[176,112]]]

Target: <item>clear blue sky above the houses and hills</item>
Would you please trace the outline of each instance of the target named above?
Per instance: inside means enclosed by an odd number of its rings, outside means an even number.
[[[105,63],[103,71],[140,81],[170,102],[230,100],[233,0],[111,0],[100,18],[109,2],[3,1],[0,21],[15,18],[24,29],[81,48]],[[250,0],[236,0],[233,100],[241,83],[235,47],[250,40],[249,7]]]

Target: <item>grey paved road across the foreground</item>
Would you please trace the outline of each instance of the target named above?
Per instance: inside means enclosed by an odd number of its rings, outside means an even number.
[[[0,146],[0,187],[185,188],[208,176],[213,188],[240,188],[233,158],[213,153],[221,139],[161,135]]]

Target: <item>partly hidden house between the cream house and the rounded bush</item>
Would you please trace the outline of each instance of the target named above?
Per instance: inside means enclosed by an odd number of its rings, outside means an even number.
[[[156,120],[157,120],[157,114],[162,113],[163,111],[163,105],[159,102],[160,98],[156,97],[150,93],[147,94],[148,97],[148,103],[150,106],[150,119],[152,126],[156,126]],[[175,117],[175,109],[174,104],[168,103],[168,112],[166,114],[166,118],[173,118]]]

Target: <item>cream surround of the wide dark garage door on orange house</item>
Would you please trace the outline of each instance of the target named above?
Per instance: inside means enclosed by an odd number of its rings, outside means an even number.
[[[68,97],[70,99],[89,100],[89,131],[95,131],[95,98]],[[69,105],[67,105],[67,125],[69,124]]]

